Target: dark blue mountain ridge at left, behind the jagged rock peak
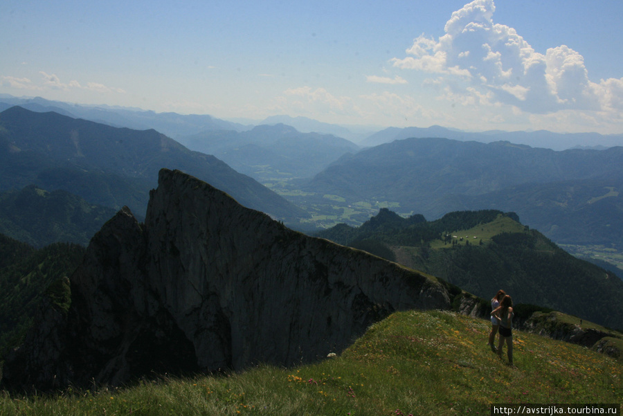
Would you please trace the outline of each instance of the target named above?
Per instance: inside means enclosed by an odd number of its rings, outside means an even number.
[[[161,168],[183,170],[241,204],[289,221],[305,212],[214,156],[164,134],[116,128],[54,112],[12,107],[0,113],[0,191],[36,184],[90,204],[129,206],[142,216]]]

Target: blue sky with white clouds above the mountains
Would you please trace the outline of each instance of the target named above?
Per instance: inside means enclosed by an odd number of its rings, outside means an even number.
[[[0,93],[623,134],[622,0],[0,0]]]

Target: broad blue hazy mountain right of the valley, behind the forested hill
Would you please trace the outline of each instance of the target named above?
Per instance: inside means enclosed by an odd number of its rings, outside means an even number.
[[[301,188],[340,195],[345,206],[393,202],[397,212],[427,219],[455,210],[514,211],[559,243],[623,247],[622,162],[623,147],[555,152],[409,138],[343,156]]]

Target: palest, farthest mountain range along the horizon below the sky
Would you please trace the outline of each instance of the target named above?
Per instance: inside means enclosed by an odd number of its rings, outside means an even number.
[[[489,130],[485,132],[464,132],[460,129],[449,129],[441,126],[431,127],[374,127],[369,125],[335,125],[322,123],[306,117],[271,116],[264,120],[233,123],[209,115],[183,115],[177,113],[156,113],[143,109],[127,107],[111,107],[107,105],[75,105],[67,102],[45,100],[44,98],[17,98],[0,94],[0,111],[13,105],[19,105],[31,111],[55,111],[73,118],[84,118],[114,127],[132,129],[156,129],[158,132],[179,140],[215,130],[233,130],[244,132],[255,125],[284,124],[296,128],[303,133],[333,134],[345,138],[361,147],[373,147],[383,143],[412,137],[440,137],[458,141],[478,141],[491,143],[510,141],[532,147],[545,147],[552,150],[566,150],[573,147],[603,149],[623,145],[623,134],[598,133],[554,133],[545,130],[536,132],[503,132]]]

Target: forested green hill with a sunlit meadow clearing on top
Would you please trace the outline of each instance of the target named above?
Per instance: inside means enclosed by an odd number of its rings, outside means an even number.
[[[566,253],[519,223],[513,213],[461,211],[422,221],[420,216],[402,218],[384,209],[357,228],[336,226],[318,236],[377,255],[389,249],[393,257],[388,260],[485,299],[505,289],[515,302],[622,327],[623,280]],[[358,246],[361,241],[368,246]]]

